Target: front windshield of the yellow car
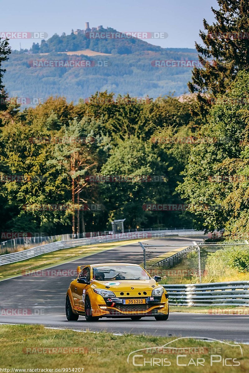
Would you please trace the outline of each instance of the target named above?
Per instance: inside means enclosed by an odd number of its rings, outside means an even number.
[[[102,266],[93,268],[93,279],[106,280],[149,280],[142,267],[136,266]]]

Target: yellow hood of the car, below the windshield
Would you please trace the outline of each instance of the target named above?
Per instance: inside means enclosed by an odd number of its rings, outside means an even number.
[[[150,280],[93,280],[93,285],[99,289],[108,289],[110,291],[131,291],[134,288],[136,291],[149,291],[158,288],[158,284],[154,279]],[[106,288],[108,286],[108,288]]]

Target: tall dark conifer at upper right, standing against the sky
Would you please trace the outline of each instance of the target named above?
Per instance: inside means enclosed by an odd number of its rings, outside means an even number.
[[[189,89],[205,95],[225,93],[239,70],[249,70],[249,2],[248,0],[217,0],[219,10],[212,7],[216,23],[203,20],[206,32],[200,31],[204,47],[196,43],[203,68],[195,67]]]

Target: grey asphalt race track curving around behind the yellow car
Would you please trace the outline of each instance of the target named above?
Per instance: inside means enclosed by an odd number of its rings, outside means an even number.
[[[200,240],[201,236],[171,237],[146,241],[150,244],[181,244]],[[172,248],[168,249],[169,251]],[[129,244],[71,261],[53,269],[75,270],[78,265],[105,262],[141,263],[142,250],[139,244]],[[71,328],[77,330],[106,330],[112,333],[148,334],[156,336],[197,336],[214,339],[233,340],[249,343],[249,315],[212,315],[170,313],[167,321],[156,321],[153,317],[139,321],[130,319],[100,319],[87,323],[80,316],[78,321],[68,322],[65,316],[65,295],[73,277],[62,276],[20,276],[0,281],[0,308],[28,310],[27,316],[0,316],[0,323],[43,324],[48,327]],[[170,308],[169,308],[170,312]]]

